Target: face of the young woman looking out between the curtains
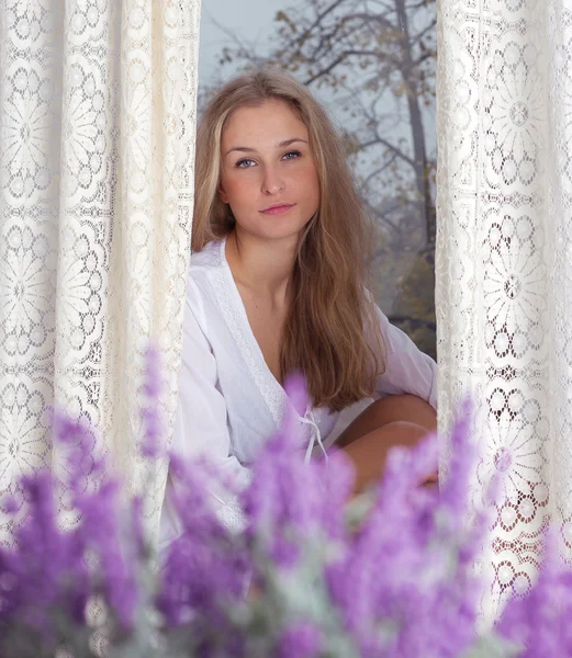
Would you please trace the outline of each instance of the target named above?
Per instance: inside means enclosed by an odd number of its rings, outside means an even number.
[[[237,230],[258,238],[298,236],[319,206],[306,126],[282,101],[239,107],[221,140],[218,192]]]

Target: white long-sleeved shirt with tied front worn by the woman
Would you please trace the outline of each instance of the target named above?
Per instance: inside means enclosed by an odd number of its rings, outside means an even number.
[[[266,364],[225,256],[226,241],[193,253],[183,321],[179,405],[172,450],[182,458],[206,456],[238,486],[249,481],[249,466],[281,423],[289,405],[284,389]],[[386,349],[385,372],[374,396],[410,393],[436,408],[436,363],[391,325],[378,308]],[[306,411],[302,436],[310,456],[332,434],[339,412]],[[339,433],[339,428],[337,428]],[[169,477],[167,488],[172,486]],[[236,499],[221,486],[212,491],[222,521],[239,530]],[[167,497],[168,498],[168,497]],[[168,500],[161,514],[160,545],[178,534]]]

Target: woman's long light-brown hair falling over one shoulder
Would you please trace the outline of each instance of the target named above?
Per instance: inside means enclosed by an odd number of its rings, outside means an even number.
[[[201,251],[235,226],[217,192],[228,117],[269,100],[287,103],[306,126],[321,188],[319,209],[305,227],[292,272],[281,375],[302,373],[313,404],[339,411],[370,396],[385,366],[379,319],[363,285],[369,222],[332,121],[287,73],[273,68],[244,73],[206,106],[197,135],[192,249]]]

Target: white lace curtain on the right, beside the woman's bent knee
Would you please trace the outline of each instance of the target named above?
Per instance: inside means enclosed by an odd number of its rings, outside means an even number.
[[[491,620],[534,579],[548,521],[572,557],[572,0],[438,11],[439,422],[471,395],[475,504],[504,476]]]

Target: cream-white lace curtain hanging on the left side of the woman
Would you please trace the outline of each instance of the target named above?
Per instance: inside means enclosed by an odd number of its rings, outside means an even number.
[[[168,429],[190,254],[199,13],[200,0],[0,5],[0,494],[18,496],[24,473],[63,467],[45,413],[56,404],[99,428],[94,450],[131,491],[152,483],[155,533],[167,465],[137,458],[138,387],[153,338]],[[0,540],[10,530],[0,518]]]

